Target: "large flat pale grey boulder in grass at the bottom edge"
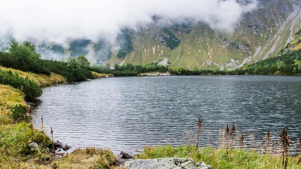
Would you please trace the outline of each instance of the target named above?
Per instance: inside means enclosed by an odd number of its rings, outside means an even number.
[[[125,169],[213,169],[211,165],[204,162],[195,162],[188,158],[157,158],[157,159],[136,159],[125,162]]]

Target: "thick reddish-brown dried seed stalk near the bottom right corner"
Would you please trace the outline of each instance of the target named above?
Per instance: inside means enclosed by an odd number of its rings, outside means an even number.
[[[282,166],[283,169],[287,168],[287,163],[288,163],[288,148],[289,148],[289,141],[290,138],[287,135],[287,130],[283,127],[283,130],[281,131],[280,140],[282,142]]]

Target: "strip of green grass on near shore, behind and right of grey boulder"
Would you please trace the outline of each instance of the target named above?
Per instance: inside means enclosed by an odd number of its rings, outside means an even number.
[[[204,147],[196,150],[193,145],[146,147],[140,154],[136,154],[135,158],[154,159],[174,156],[204,161],[207,165],[212,165],[215,169],[282,168],[282,156],[280,154],[260,154],[258,151],[232,149],[229,150],[229,154],[227,155],[226,149],[223,148]],[[297,165],[297,157],[289,157],[288,168],[301,168],[301,164]]]

